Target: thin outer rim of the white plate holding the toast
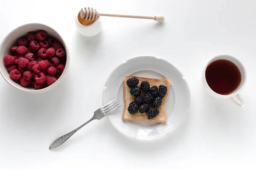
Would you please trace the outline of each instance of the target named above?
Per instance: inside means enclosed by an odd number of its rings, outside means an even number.
[[[169,63],[170,65],[172,65],[173,68],[175,68],[176,71],[178,71],[178,73],[180,74],[181,78],[183,79],[183,82],[185,83],[186,87],[187,87],[187,95],[189,96],[189,99],[188,99],[188,105],[186,106],[186,110],[185,112],[189,112],[190,110],[190,105],[191,105],[191,94],[190,94],[190,88],[189,88],[189,84],[187,83],[186,79],[184,78],[184,75],[181,73],[181,71],[179,69],[177,69],[177,67],[175,65],[173,65],[171,62],[169,62],[167,59],[164,59],[164,58],[161,58],[161,57],[156,57],[156,56],[153,56],[153,55],[138,55],[138,56],[134,56],[134,57],[131,57],[129,59],[126,59],[125,61],[121,62],[116,68],[113,69],[113,71],[111,71],[111,74],[109,74],[108,78],[106,79],[105,81],[105,84],[104,84],[104,88],[103,88],[103,91],[102,91],[102,105],[104,105],[104,93],[105,93],[105,87],[107,85],[107,83],[109,82],[110,78],[112,77],[112,75],[122,66],[124,65],[126,62],[134,59],[134,58],[137,58],[137,57],[152,57],[152,58],[155,58],[155,59],[161,59],[163,60],[164,62],[167,62]],[[175,133],[183,124],[184,122],[186,121],[187,119],[187,116],[185,117],[185,119],[183,120],[183,122],[180,123],[180,125],[175,129],[173,130],[172,132],[169,132],[169,133],[166,133],[165,136],[162,136],[160,138],[157,138],[157,139],[152,139],[152,140],[141,140],[141,139],[137,139],[137,138],[133,138],[133,137],[130,137],[130,136],[127,136],[125,135],[125,133],[122,133],[122,131],[120,131],[118,128],[116,128],[115,125],[113,125],[113,123],[111,122],[110,120],[110,117],[108,116],[108,120],[109,122],[111,123],[111,125],[116,129],[116,131],[118,131],[118,133],[120,133],[122,136],[125,136],[126,138],[128,139],[131,139],[133,141],[137,141],[137,142],[156,142],[156,141],[160,141],[160,140],[163,140],[165,139],[166,137],[172,135],[173,133]]]

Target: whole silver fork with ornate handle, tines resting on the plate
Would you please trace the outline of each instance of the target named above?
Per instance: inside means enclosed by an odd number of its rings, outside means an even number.
[[[98,120],[102,119],[104,116],[107,116],[109,113],[111,113],[113,110],[119,108],[120,106],[121,105],[119,104],[117,99],[114,99],[111,102],[107,103],[106,105],[102,106],[101,108],[99,108],[98,110],[96,110],[94,112],[94,115],[93,115],[93,117],[90,120],[85,122],[83,125],[77,127],[75,130],[72,130],[71,132],[69,132],[67,134],[64,134],[63,136],[59,137],[54,142],[52,142],[52,144],[49,146],[49,149],[54,149],[56,147],[61,146],[61,144],[66,142],[67,139],[69,139],[79,129],[84,127],[84,125],[86,125],[87,123],[91,122],[94,119],[98,119]]]

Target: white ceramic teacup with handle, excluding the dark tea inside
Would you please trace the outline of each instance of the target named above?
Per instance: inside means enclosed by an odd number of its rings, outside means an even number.
[[[230,94],[227,95],[223,95],[223,94],[218,94],[215,91],[213,91],[206,80],[206,76],[205,76],[205,71],[208,67],[208,65],[210,65],[212,62],[219,60],[219,59],[226,59],[229,60],[230,62],[233,62],[238,68],[239,71],[241,73],[241,83],[240,85],[236,88],[236,90],[234,90],[233,92],[231,92]],[[207,89],[207,91],[209,92],[209,94],[211,94],[212,96],[218,97],[218,98],[230,98],[234,103],[236,103],[236,105],[239,105],[240,107],[244,107],[244,100],[242,99],[242,97],[239,95],[239,92],[244,88],[245,82],[247,79],[247,75],[246,75],[246,71],[244,66],[242,65],[242,63],[235,57],[228,55],[228,54],[221,54],[218,56],[213,57],[205,66],[204,71],[203,71],[203,84],[205,85],[205,88]]]

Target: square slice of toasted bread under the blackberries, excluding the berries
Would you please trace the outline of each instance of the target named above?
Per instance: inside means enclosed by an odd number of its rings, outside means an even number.
[[[144,78],[144,77],[137,77],[139,79],[138,86],[140,86],[140,83],[142,81],[148,81],[150,84],[150,87],[152,87],[153,85],[156,85],[157,87],[159,85],[165,85],[168,89],[166,96],[164,96],[162,99],[162,104],[158,108],[160,113],[153,119],[148,119],[148,116],[146,115],[146,113],[139,113],[139,111],[138,111],[135,114],[131,114],[127,110],[129,104],[131,102],[133,102],[136,97],[136,96],[133,96],[130,94],[131,88],[129,88],[126,84],[126,81],[131,77],[134,77],[134,76],[127,76],[127,77],[125,77],[125,79],[123,81],[125,107],[124,107],[124,111],[123,111],[123,115],[122,115],[122,120],[140,120],[140,121],[150,121],[150,122],[159,122],[159,123],[166,122],[166,100],[167,100],[169,90],[170,90],[169,80],[168,79],[150,79],[150,78]],[[144,93],[142,92],[141,95],[144,95]]]

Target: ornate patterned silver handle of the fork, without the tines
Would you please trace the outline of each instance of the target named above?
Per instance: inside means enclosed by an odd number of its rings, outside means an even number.
[[[52,142],[52,144],[50,145],[49,149],[54,149],[56,147],[59,147],[61,144],[66,142],[67,139],[69,139],[74,133],[76,133],[79,129],[84,127],[87,123],[91,122],[92,120],[94,120],[94,117],[92,117],[90,120],[85,122],[83,125],[77,127],[75,130],[72,130],[71,132],[69,132],[67,134],[64,134],[63,136],[61,136],[58,139],[56,139],[54,142]]]

